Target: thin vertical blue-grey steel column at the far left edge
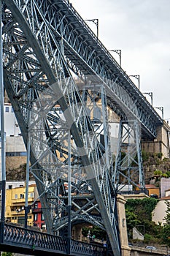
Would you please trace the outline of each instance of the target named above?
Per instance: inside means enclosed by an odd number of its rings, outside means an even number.
[[[1,20],[1,0],[0,0],[0,94],[1,94],[1,243],[4,242],[4,221],[5,221],[5,187],[6,187],[6,167],[5,167],[5,144],[4,144],[4,79],[3,79],[3,41],[2,41],[2,20]]]

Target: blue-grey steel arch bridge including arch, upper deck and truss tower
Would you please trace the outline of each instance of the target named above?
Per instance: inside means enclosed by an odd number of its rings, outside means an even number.
[[[133,171],[144,189],[139,127],[143,140],[153,140],[162,118],[69,1],[2,0],[2,24],[4,86],[28,149],[47,232],[66,235],[69,218],[72,225],[88,222],[106,230],[112,253],[121,255],[117,184],[120,176],[135,184]],[[73,73],[82,83],[75,84]],[[129,157],[121,162],[120,149],[113,167],[108,109],[128,134],[134,130],[136,170],[131,166],[129,172]]]

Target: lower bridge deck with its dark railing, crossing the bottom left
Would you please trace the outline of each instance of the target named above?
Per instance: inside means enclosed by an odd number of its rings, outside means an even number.
[[[1,252],[18,252],[24,255],[107,255],[107,248],[104,246],[7,224],[1,224],[0,238]]]

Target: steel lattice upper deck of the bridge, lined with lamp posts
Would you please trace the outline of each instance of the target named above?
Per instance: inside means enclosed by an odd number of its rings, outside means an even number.
[[[55,31],[55,37],[63,39],[69,67],[84,78],[96,75],[101,79],[115,112],[122,118],[125,113],[131,113],[142,124],[144,137],[155,138],[156,127],[163,124],[163,120],[72,5],[64,0],[36,2],[51,29]],[[127,92],[128,97],[125,97]]]

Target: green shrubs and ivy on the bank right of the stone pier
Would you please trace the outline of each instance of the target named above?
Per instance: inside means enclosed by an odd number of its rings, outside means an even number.
[[[158,243],[170,246],[170,202],[166,201],[166,224],[155,225],[152,222],[152,211],[158,200],[155,198],[129,199],[125,204],[128,238],[132,239],[132,229],[136,227],[144,234],[144,243]]]

